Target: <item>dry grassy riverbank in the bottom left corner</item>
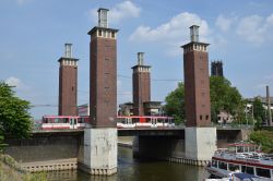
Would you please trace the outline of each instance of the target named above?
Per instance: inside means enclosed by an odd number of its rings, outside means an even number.
[[[0,180],[1,181],[47,181],[45,173],[31,174],[22,169],[9,155],[0,155]]]

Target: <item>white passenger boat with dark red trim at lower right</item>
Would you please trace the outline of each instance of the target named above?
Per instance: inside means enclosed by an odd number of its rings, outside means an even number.
[[[273,180],[273,157],[259,152],[249,143],[229,144],[217,149],[206,170],[218,178],[230,178],[230,173],[248,173],[259,179]]]

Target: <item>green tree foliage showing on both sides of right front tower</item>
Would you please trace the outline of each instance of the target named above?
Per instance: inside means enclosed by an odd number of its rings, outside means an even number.
[[[225,77],[210,77],[211,114],[212,121],[217,122],[217,114],[225,110],[238,119],[244,119],[245,101],[238,89],[233,87]],[[178,121],[185,121],[185,86],[179,83],[178,87],[165,98],[165,111]]]

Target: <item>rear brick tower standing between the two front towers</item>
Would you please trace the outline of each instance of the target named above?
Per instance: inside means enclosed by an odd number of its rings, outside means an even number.
[[[133,114],[144,116],[145,101],[151,100],[150,65],[144,65],[144,52],[138,52],[138,64],[133,70]]]

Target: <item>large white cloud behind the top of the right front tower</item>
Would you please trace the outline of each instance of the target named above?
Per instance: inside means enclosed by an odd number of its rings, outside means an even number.
[[[193,24],[200,26],[200,40],[207,40],[210,29],[206,21],[202,20],[199,15],[189,12],[177,14],[167,23],[155,28],[141,25],[130,36],[130,40],[141,43],[162,41],[169,47],[168,55],[177,56],[178,53],[181,53],[180,46],[189,41],[189,27]]]

